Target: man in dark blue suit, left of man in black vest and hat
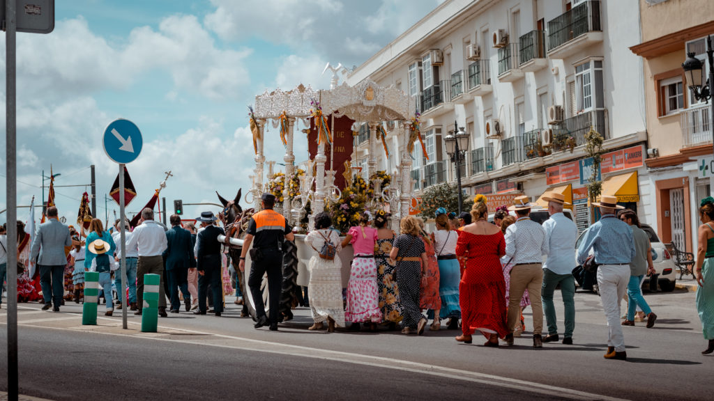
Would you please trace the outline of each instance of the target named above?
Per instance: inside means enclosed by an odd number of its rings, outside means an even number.
[[[166,231],[166,278],[169,281],[169,298],[171,299],[170,313],[178,313],[181,303],[178,300],[178,289],[183,294],[183,303],[186,311],[191,310],[191,295],[188,293],[188,269],[196,267],[191,246],[191,233],[181,228],[181,217],[171,215],[171,230]]]

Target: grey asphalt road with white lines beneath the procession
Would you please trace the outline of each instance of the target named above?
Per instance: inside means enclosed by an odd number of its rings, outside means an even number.
[[[498,349],[481,346],[482,337],[474,337],[473,345],[457,344],[454,330],[421,337],[315,333],[306,330],[311,319],[305,308],[277,333],[254,330],[232,303],[221,318],[170,315],[159,320],[159,333],[140,333],[133,315],[129,330],[121,329],[118,313],[101,316],[98,326],[81,326],[81,306],[74,303],[61,313],[21,304],[20,388],[53,400],[710,400],[714,359],[700,355],[705,340],[694,293],[645,297],[658,323],[624,328],[627,362],[603,359],[607,326],[591,293],[576,295],[575,344],[545,344],[542,350],[533,350],[529,333],[514,347]],[[532,328],[529,314],[526,326]],[[0,337],[5,335],[2,330]]]

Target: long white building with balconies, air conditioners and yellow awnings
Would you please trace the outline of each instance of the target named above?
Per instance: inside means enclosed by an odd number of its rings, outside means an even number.
[[[548,190],[578,203],[588,180],[585,133],[594,126],[614,151],[603,158],[605,192],[647,221],[643,68],[629,49],[640,43],[639,12],[637,1],[447,0],[353,70],[348,83],[394,85],[422,113],[428,160],[417,144],[417,191],[456,179],[443,143],[456,121],[470,135],[461,171],[467,195],[536,200]],[[364,126],[353,157],[363,166],[367,135]],[[398,155],[387,160],[375,148],[378,170],[393,171]],[[586,208],[575,209],[587,225]]]

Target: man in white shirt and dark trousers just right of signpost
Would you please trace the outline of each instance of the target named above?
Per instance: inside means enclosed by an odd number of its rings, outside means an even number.
[[[166,293],[164,291],[164,257],[166,234],[164,227],[154,221],[154,210],[141,210],[141,224],[134,228],[126,248],[138,248],[139,263],[136,267],[136,303],[139,310],[134,315],[141,315],[144,308],[144,275],[158,274],[159,281],[159,316],[166,318]],[[127,278],[127,280],[129,280]]]

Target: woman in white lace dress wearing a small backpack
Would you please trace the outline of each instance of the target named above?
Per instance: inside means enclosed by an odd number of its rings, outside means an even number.
[[[328,332],[335,331],[335,326],[345,326],[345,311],[342,304],[342,262],[338,256],[341,250],[340,237],[336,230],[331,230],[332,219],[327,213],[315,216],[315,230],[305,238],[305,242],[315,250],[310,259],[310,282],[308,298],[310,311],[315,324],[308,330],[321,330],[325,320]],[[323,246],[334,247],[334,258],[323,258]],[[324,254],[325,252],[323,252]]]

